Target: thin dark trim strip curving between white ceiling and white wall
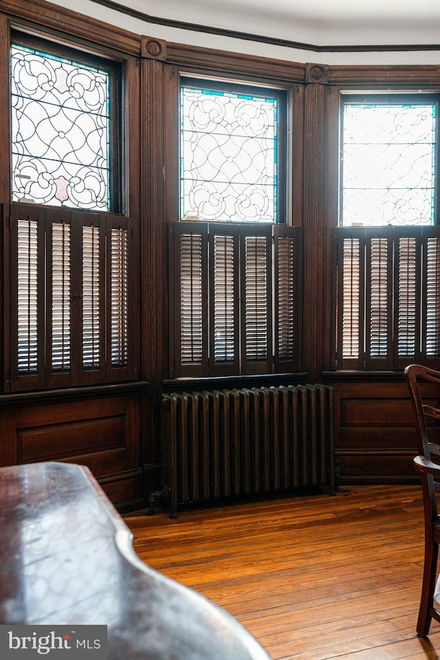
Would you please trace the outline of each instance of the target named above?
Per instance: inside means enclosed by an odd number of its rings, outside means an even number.
[[[206,34],[217,34],[219,36],[228,36],[232,39],[244,39],[245,41],[256,41],[258,43],[268,43],[287,48],[297,48],[300,50],[310,50],[318,53],[322,52],[394,52],[401,50],[440,50],[439,44],[399,44],[399,45],[317,45],[304,43],[302,41],[291,41],[290,39],[279,39],[275,36],[265,36],[263,34],[252,34],[249,32],[239,32],[238,30],[226,30],[225,28],[214,28],[210,25],[201,25],[199,23],[186,23],[186,21],[176,21],[173,19],[162,19],[161,17],[151,16],[131,7],[121,5],[114,0],[92,0],[115,12],[127,14],[128,16],[153,23],[155,25],[166,25],[169,28],[178,28],[179,30],[191,30],[192,32],[204,32]]]

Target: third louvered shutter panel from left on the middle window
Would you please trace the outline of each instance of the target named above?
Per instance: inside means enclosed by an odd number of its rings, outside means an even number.
[[[241,373],[273,371],[272,226],[240,228]]]

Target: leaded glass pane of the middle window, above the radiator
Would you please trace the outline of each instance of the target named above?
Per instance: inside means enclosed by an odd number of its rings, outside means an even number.
[[[274,222],[278,100],[181,88],[181,218]]]

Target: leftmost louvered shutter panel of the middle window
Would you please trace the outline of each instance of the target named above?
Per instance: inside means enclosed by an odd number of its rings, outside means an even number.
[[[175,375],[208,373],[208,226],[170,223]]]

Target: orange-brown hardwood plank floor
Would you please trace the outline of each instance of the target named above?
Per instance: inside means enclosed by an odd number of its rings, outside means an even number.
[[[439,624],[415,633],[419,487],[145,513],[124,516],[140,558],[228,610],[274,660],[438,657]]]

